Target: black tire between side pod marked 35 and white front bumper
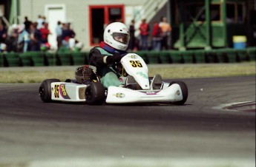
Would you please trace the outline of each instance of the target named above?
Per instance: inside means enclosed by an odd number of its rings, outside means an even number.
[[[105,88],[102,83],[89,83],[85,89],[85,99],[89,105],[102,105],[105,101]]]

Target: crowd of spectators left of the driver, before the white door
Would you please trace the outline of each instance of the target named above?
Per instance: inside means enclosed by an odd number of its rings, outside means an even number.
[[[70,50],[79,43],[74,38],[76,33],[70,28],[70,23],[58,21],[55,33],[58,50],[61,47]],[[51,34],[45,16],[39,15],[36,21],[30,21],[25,16],[22,24],[12,24],[8,28],[0,20],[0,52],[50,50],[48,35]]]

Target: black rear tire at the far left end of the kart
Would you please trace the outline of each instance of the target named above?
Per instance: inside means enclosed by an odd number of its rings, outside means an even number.
[[[59,79],[47,79],[45,81],[42,81],[42,83],[39,87],[39,97],[45,103],[48,103],[51,101],[50,83],[53,83],[53,82],[60,82],[60,81],[59,81]]]

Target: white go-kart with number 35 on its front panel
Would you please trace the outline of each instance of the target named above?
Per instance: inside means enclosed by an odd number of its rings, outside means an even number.
[[[160,85],[154,86],[154,78],[148,77],[148,67],[139,55],[128,53],[122,57],[120,64],[121,69],[119,66],[119,71],[122,71],[119,72],[120,80],[123,81],[124,86],[109,86],[108,89],[105,89],[99,76],[93,70],[96,77],[84,83],[47,79],[39,87],[39,96],[44,102],[59,100],[85,102],[90,105],[101,105],[102,103],[171,103],[183,105],[186,102],[188,98],[186,83],[183,81],[172,81],[171,83],[161,81]],[[134,78],[134,83],[125,85],[125,80],[128,77]]]

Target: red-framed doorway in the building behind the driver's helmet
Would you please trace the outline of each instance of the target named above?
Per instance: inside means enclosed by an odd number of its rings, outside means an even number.
[[[124,5],[89,6],[90,45],[103,41],[105,27],[114,21],[125,22]]]

